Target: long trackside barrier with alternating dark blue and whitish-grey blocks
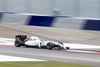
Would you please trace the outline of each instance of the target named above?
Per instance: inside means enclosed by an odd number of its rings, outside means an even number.
[[[81,30],[100,30],[99,18],[78,18],[69,16],[50,16],[25,13],[0,13],[0,23]]]

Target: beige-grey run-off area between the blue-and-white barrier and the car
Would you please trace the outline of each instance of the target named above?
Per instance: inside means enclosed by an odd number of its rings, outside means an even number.
[[[25,26],[17,24],[0,24],[0,31],[2,31],[0,32],[0,37],[2,38],[14,38],[15,35],[25,34],[28,36],[36,35],[45,39],[65,43],[100,45],[100,31]]]

